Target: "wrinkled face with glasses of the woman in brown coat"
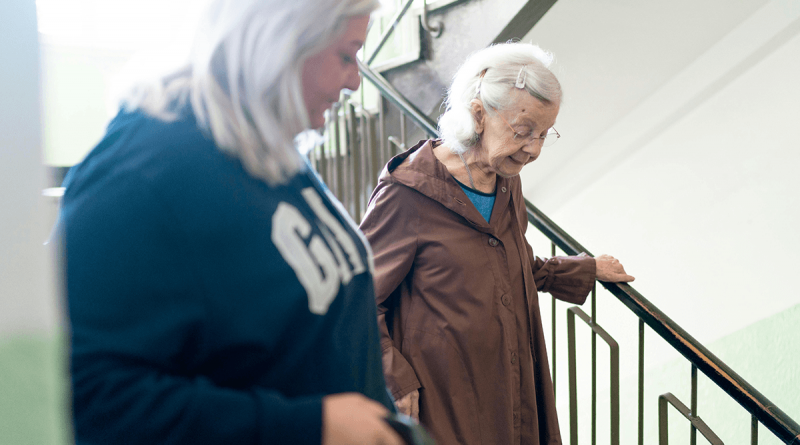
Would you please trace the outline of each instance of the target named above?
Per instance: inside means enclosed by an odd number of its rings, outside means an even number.
[[[481,135],[475,151],[479,165],[505,178],[518,175],[522,167],[539,157],[542,139],[524,136],[544,137],[555,125],[559,109],[558,103],[545,104],[524,90],[514,89],[510,94],[513,105],[509,109],[492,114],[482,109],[476,126]],[[522,137],[515,139],[515,132]]]

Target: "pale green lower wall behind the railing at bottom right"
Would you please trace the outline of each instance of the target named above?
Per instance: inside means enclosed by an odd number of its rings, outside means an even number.
[[[755,303],[754,303],[755,304]],[[800,304],[772,317],[758,321],[706,347],[775,406],[800,423]],[[660,340],[646,328],[646,344]],[[624,347],[635,348],[636,338],[620,338]],[[605,366],[607,348],[598,342],[598,368]],[[564,359],[566,357],[563,357]],[[579,358],[579,363],[581,359]],[[566,362],[559,359],[559,378],[566,380]],[[582,368],[583,371],[586,366]],[[684,404],[691,402],[691,365],[683,358],[653,367],[645,365],[645,444],[658,443],[658,396],[671,392]],[[581,371],[582,372],[582,371]],[[637,374],[635,365],[621,369],[620,443],[636,444]],[[600,373],[602,374],[602,372]],[[588,373],[578,381],[580,444],[591,443],[591,393]],[[610,443],[609,397],[605,377],[598,378],[597,443]],[[560,386],[560,385],[559,385]],[[563,388],[566,389],[566,388]],[[559,418],[564,443],[569,443],[569,404],[567,393],[558,394]],[[750,444],[750,415],[730,399],[702,373],[698,373],[698,414],[726,445]],[[689,423],[674,408],[669,408],[669,440],[672,444],[689,443]],[[759,426],[759,445],[777,445],[780,440]],[[707,443],[698,434],[698,444]]]

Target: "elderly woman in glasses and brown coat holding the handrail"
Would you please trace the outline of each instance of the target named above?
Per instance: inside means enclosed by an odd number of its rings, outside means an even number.
[[[560,444],[537,292],[581,304],[610,256],[542,259],[519,173],[555,142],[561,88],[536,46],[472,55],[441,140],[391,161],[361,229],[372,245],[383,364],[397,406],[441,444]]]

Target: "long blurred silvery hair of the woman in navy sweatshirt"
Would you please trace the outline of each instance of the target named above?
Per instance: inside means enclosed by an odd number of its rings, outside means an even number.
[[[369,14],[378,0],[214,0],[197,28],[188,62],[141,83],[125,108],[179,118],[187,101],[198,125],[254,177],[284,184],[304,168],[294,138],[310,126],[302,67]]]

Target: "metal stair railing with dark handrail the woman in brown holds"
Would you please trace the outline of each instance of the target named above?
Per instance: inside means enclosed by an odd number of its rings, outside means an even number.
[[[378,173],[394,154],[405,147],[405,118],[410,118],[428,137],[438,137],[435,123],[425,113],[411,104],[386,79],[372,71],[369,66],[359,61],[362,75],[379,90],[381,103],[377,118],[355,104],[349,98],[335,106],[329,113],[325,127],[323,146],[317,147],[311,155],[312,165],[329,184],[332,192],[345,205],[356,221],[360,221],[366,211],[367,200],[377,184]],[[384,99],[397,107],[401,114],[401,134],[399,139],[386,134]],[[591,253],[569,234],[550,220],[533,204],[525,201],[528,222],[544,234],[551,243],[551,254],[556,255],[556,247],[567,255]],[[763,425],[783,443],[800,445],[800,426],[764,395],[734,372],[722,360],[714,356],[700,342],[695,340],[677,323],[655,305],[645,299],[632,286],[625,283],[601,282],[612,295],[622,302],[638,317],[638,443],[644,443],[644,340],[645,325],[669,343],[676,351],[691,363],[691,401],[690,407],[671,393],[658,397],[659,445],[666,445],[667,409],[672,405],[691,424],[691,443],[696,443],[699,431],[712,444],[722,444],[719,437],[697,415],[697,371],[700,370],[715,385],[725,391],[739,403],[751,416],[751,444],[758,443],[758,425]],[[596,288],[590,299],[591,315],[581,308],[573,306],[567,309],[567,342],[568,342],[568,378],[570,400],[570,443],[578,444],[578,411],[577,411],[577,366],[575,320],[579,318],[591,329],[592,355],[592,436],[595,444],[597,437],[597,337],[609,346],[610,352],[610,443],[619,444],[619,345],[596,323]],[[556,360],[556,304],[553,299],[551,325],[552,378],[555,387],[559,377]]]

